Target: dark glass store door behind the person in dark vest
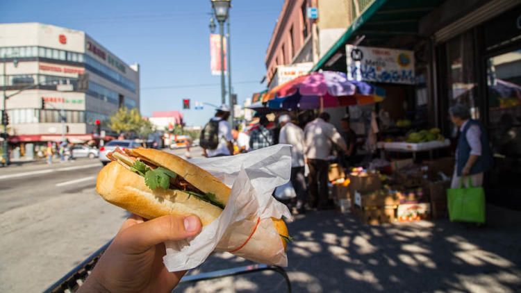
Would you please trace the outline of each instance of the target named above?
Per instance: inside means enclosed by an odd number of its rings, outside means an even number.
[[[487,58],[488,133],[495,164],[488,201],[521,209],[521,49]]]

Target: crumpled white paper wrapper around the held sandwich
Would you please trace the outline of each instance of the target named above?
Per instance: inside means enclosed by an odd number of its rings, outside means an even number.
[[[212,251],[236,249],[237,247],[231,247],[230,243],[236,243],[237,239],[232,241],[231,238],[244,237],[246,241],[251,233],[249,231],[253,231],[259,218],[257,229],[263,231],[262,236],[280,239],[270,217],[280,219],[284,216],[289,221],[293,218],[288,208],[274,199],[272,192],[275,187],[290,179],[289,145],[277,144],[237,156],[194,159],[190,162],[206,169],[231,187],[231,193],[220,217],[210,225],[204,226],[199,235],[188,241],[165,242],[167,255],[163,257],[163,262],[168,271],[192,269],[204,262]],[[241,233],[231,233],[238,231],[237,229],[245,231],[245,236],[241,236]],[[250,241],[254,241],[253,238]],[[280,247],[272,247],[274,253],[268,262],[287,266],[288,259],[282,242],[274,243],[280,244]],[[241,251],[234,254],[241,256]],[[249,259],[263,261],[251,257]]]

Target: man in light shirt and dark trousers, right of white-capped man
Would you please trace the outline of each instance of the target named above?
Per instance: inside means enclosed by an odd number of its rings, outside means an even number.
[[[330,118],[329,113],[322,112],[317,119],[309,122],[304,128],[304,145],[306,146],[304,154],[309,167],[308,181],[311,206],[317,206],[319,209],[333,208],[333,205],[329,202],[327,190],[328,157],[331,153],[332,142],[347,153],[347,147],[342,136],[335,126],[329,123]]]

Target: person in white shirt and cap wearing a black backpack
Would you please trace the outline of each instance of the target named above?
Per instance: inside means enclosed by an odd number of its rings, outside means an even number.
[[[199,145],[208,158],[233,155],[233,136],[227,122],[230,117],[229,106],[223,104],[217,108],[215,117],[204,126],[199,137]]]

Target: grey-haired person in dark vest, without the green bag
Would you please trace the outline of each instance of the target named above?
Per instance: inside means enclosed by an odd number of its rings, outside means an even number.
[[[488,135],[483,125],[470,119],[467,106],[458,104],[449,108],[452,123],[459,127],[458,147],[456,149],[456,167],[452,176],[452,188],[459,188],[462,177],[468,185],[470,176],[472,187],[483,185],[483,173],[492,166],[492,151]]]

